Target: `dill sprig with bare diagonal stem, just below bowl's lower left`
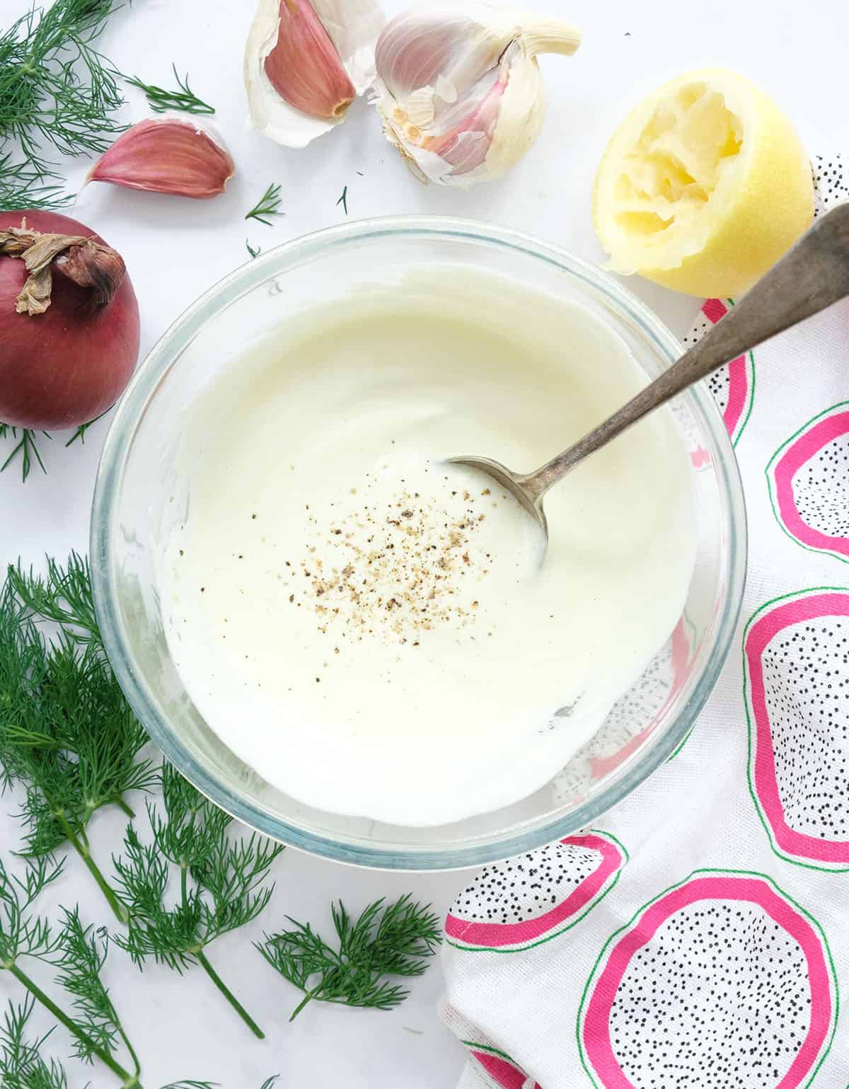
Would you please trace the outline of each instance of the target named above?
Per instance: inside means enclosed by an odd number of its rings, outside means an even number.
[[[256,833],[231,840],[232,818],[168,763],[162,768],[162,803],[164,817],[152,804],[147,807],[152,844],[142,843],[130,824],[124,856],[114,860],[130,923],[126,934],[113,940],[139,968],[150,958],[181,974],[199,964],[251,1032],[263,1039],[206,950],[264,910],[274,888],[266,880],[283,847]],[[180,876],[180,895],[167,907],[172,867]]]

